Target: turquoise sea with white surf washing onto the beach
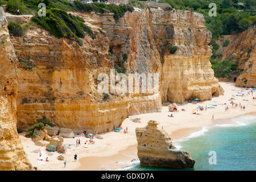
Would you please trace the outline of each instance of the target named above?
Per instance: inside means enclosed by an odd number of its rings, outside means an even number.
[[[174,141],[176,147],[189,151],[196,161],[194,168],[185,170],[256,170],[256,115],[244,115],[232,121],[237,125],[203,127],[185,139]],[[210,151],[216,152],[216,164],[209,164]],[[144,167],[137,161],[125,170],[173,169]]]

